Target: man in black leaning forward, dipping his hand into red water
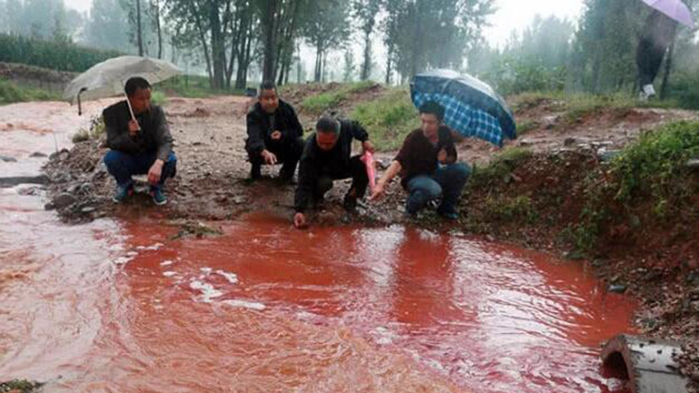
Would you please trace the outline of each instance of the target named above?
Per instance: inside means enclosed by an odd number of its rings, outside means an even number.
[[[373,152],[368,134],[357,122],[321,117],[303,148],[298,167],[298,186],[294,197],[294,225],[304,227],[305,210],[322,201],[333,187],[333,180],[352,178],[352,186],[345,195],[344,207],[356,208],[358,198],[364,196],[369,183],[366,166],[359,155],[352,155],[352,140],[361,142],[363,152]]]

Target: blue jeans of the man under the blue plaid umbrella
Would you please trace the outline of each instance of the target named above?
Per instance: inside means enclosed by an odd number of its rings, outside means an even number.
[[[415,214],[433,199],[442,197],[438,213],[456,213],[456,202],[461,197],[461,190],[471,174],[467,164],[457,162],[440,166],[433,176],[415,176],[408,180],[408,202],[405,211]]]

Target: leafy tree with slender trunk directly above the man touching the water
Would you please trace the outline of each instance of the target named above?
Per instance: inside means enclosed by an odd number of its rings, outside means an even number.
[[[349,9],[344,1],[318,1],[312,5],[312,17],[303,26],[303,36],[315,46],[315,82],[322,80],[327,52],[338,48],[349,37]]]

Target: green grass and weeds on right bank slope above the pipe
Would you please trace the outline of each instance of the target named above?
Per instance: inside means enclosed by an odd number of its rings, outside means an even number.
[[[637,214],[664,222],[696,214],[699,192],[687,160],[699,155],[699,122],[675,122],[643,134],[585,185],[586,204],[566,236],[579,250],[594,250],[605,225],[641,225]],[[614,214],[610,209],[615,207]]]

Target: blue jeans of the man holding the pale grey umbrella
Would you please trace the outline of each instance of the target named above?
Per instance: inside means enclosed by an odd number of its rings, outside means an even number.
[[[145,175],[155,162],[155,153],[143,153],[138,155],[130,155],[118,150],[109,150],[104,156],[104,164],[107,166],[107,171],[117,180],[117,185],[120,187],[129,187],[133,180],[133,175]],[[175,176],[177,171],[177,157],[175,153],[170,152],[168,160],[163,165],[163,172],[160,176],[160,181],[152,187],[162,187],[165,180]]]

